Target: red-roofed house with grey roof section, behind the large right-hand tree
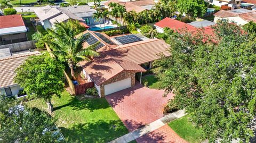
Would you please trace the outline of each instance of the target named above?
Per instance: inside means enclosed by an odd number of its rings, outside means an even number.
[[[196,32],[198,30],[203,30],[203,32],[207,35],[213,35],[213,26],[215,23],[207,20],[203,21],[196,21],[191,23],[184,23],[175,19],[165,18],[159,22],[157,22],[154,26],[156,27],[156,31],[159,33],[164,32],[164,28],[170,28],[174,31],[189,31],[189,32]],[[203,28],[203,29],[202,29]]]

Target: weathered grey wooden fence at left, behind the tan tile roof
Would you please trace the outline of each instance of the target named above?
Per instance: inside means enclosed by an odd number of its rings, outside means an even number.
[[[20,43],[13,43],[13,44],[7,44],[7,45],[1,45],[0,49],[4,48],[10,48],[11,52],[20,52],[25,51],[29,49],[35,49],[35,41],[23,41]]]

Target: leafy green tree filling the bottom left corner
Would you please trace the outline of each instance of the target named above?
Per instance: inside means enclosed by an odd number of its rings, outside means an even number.
[[[18,99],[0,96],[1,142],[63,142],[56,131],[49,114],[22,106]]]

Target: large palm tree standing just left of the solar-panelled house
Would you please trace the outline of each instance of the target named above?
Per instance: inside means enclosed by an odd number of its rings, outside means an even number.
[[[55,23],[55,29],[48,30],[54,40],[47,41],[47,43],[53,49],[52,53],[54,55],[65,59],[70,68],[71,76],[73,79],[76,79],[74,76],[74,65],[79,61],[90,61],[91,57],[98,56],[99,53],[94,51],[94,47],[98,44],[94,44],[83,49],[83,42],[86,37],[79,36],[74,38],[74,29],[72,29],[67,23]]]

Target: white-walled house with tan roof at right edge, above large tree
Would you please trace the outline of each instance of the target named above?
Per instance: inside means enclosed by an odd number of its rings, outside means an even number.
[[[214,16],[214,22],[224,20],[230,23],[236,23],[238,26],[243,26],[250,21],[256,22],[256,12],[247,9],[236,9],[230,11],[220,10],[215,13]]]

